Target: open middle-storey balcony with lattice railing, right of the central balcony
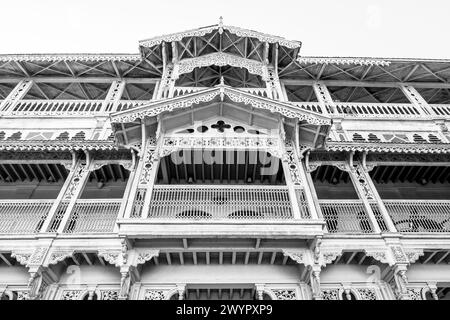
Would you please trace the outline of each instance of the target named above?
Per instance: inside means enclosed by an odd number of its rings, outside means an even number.
[[[375,232],[375,223],[381,232],[392,232],[389,222],[395,232],[406,234],[450,232],[447,167],[379,166],[370,176],[381,199],[365,205],[347,172],[321,166],[312,173],[328,232],[370,234]]]

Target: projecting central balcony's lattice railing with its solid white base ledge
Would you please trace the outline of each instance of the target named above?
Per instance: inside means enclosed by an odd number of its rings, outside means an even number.
[[[286,186],[155,185],[148,211],[138,191],[131,217],[119,220],[129,236],[311,236],[322,232],[300,201],[295,219]]]

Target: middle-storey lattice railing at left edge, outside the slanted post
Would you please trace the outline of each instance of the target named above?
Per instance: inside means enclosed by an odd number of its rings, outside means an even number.
[[[38,233],[54,200],[1,200],[0,234]]]

